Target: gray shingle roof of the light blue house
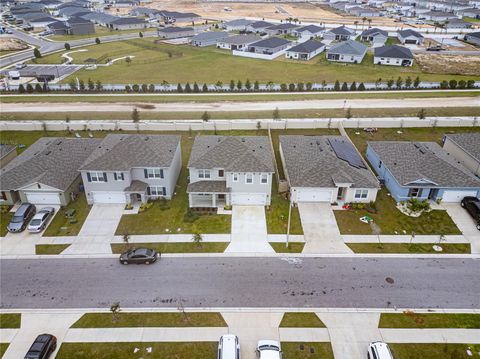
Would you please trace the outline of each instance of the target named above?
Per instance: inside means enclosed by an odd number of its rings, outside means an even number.
[[[480,179],[435,142],[371,141],[368,146],[403,186],[428,181],[437,187],[480,188]]]

